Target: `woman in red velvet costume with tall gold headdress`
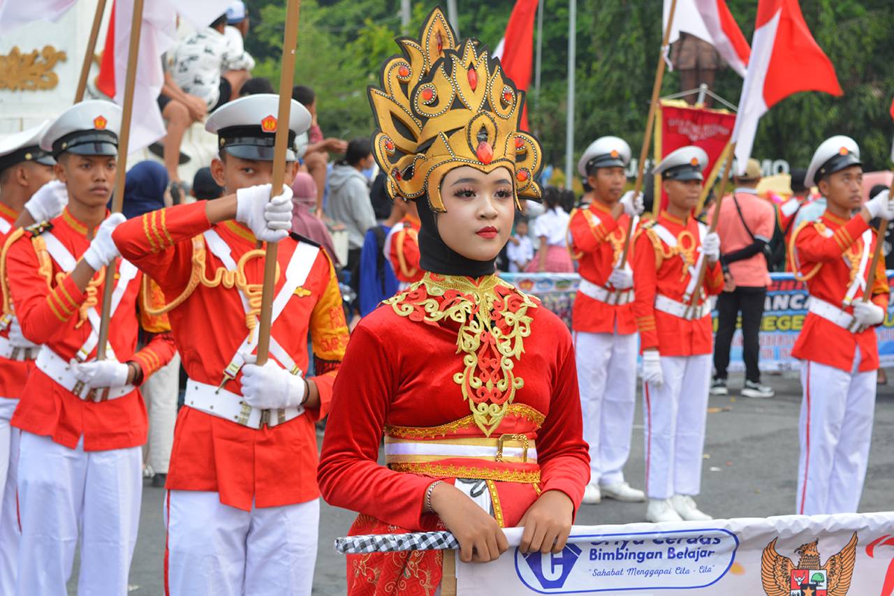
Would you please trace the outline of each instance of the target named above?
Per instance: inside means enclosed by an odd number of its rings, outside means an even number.
[[[351,336],[333,389],[320,489],[358,511],[350,533],[446,528],[460,560],[559,552],[589,479],[574,348],[536,298],[494,272],[539,142],[519,130],[524,94],[440,10],[370,88],[374,154],[394,200],[416,200],[421,281]],[[385,466],[377,463],[384,435]],[[442,551],[348,557],[348,593],[434,594]]]

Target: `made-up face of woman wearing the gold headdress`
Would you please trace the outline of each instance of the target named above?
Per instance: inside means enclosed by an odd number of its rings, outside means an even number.
[[[444,244],[473,261],[490,261],[500,254],[512,232],[515,197],[508,168],[485,173],[463,165],[441,181],[447,213],[437,214]]]

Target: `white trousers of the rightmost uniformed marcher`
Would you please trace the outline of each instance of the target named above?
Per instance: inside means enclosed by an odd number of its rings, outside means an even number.
[[[802,363],[796,513],[856,512],[873,434],[875,381],[875,371],[857,373],[856,364],[848,373]]]

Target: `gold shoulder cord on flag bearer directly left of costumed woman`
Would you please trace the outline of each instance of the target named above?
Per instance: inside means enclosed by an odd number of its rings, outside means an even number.
[[[257,325],[257,314],[261,311],[261,293],[263,286],[260,283],[249,283],[245,276],[245,264],[253,258],[263,258],[264,250],[256,248],[249,250],[241,256],[235,271],[230,271],[225,267],[217,267],[214,279],[208,279],[205,274],[207,263],[207,250],[205,248],[205,239],[203,236],[194,236],[192,239],[192,271],[190,272],[190,281],[186,284],[186,288],[180,293],[180,296],[174,298],[171,302],[164,306],[155,308],[148,304],[148,291],[146,285],[148,279],[143,277],[143,309],[148,315],[158,316],[171,312],[177,306],[183,304],[193,291],[201,284],[206,288],[216,288],[223,285],[224,288],[237,288],[241,290],[249,299],[249,312],[245,317],[246,327],[249,331],[253,331]],[[276,280],[280,277],[280,266],[276,264]]]

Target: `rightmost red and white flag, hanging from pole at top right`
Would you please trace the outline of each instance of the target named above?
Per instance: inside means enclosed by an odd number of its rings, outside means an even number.
[[[751,60],[732,133],[739,174],[745,172],[761,116],[800,91],[844,95],[835,67],[807,29],[797,0],[759,0]]]

